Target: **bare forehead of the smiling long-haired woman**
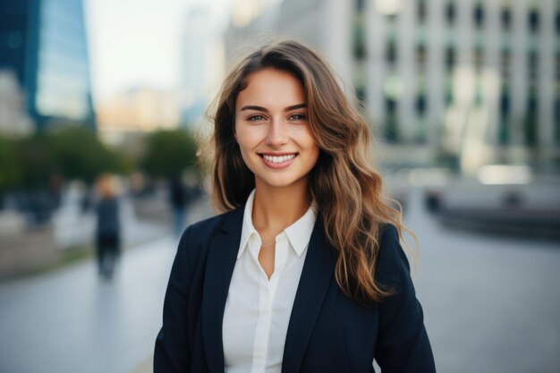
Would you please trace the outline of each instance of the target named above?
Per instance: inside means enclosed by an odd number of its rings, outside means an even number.
[[[246,82],[245,89],[237,95],[236,110],[245,105],[273,109],[305,103],[301,82],[290,72],[266,68],[251,72]]]

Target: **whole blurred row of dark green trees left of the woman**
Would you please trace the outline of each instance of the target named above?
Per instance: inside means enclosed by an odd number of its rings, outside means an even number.
[[[91,183],[105,172],[132,173],[140,165],[148,175],[167,177],[196,164],[196,145],[182,130],[146,136],[139,159],[123,149],[107,148],[87,127],[64,127],[27,138],[0,136],[0,192],[48,189],[55,180]]]

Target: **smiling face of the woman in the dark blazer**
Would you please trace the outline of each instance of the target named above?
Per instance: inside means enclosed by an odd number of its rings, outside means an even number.
[[[247,81],[235,104],[235,139],[257,188],[307,188],[319,148],[300,81],[273,68],[253,72]]]

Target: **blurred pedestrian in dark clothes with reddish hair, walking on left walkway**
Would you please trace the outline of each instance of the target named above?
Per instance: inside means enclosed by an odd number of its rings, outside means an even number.
[[[111,280],[115,271],[115,262],[120,254],[121,223],[119,205],[115,192],[113,177],[103,174],[96,184],[98,203],[96,206],[97,229],[96,251],[100,278]]]

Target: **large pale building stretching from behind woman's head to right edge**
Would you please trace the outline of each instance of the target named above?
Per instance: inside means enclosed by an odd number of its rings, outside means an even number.
[[[284,0],[226,41],[309,42],[352,83],[395,163],[443,155],[471,172],[560,163],[559,14],[556,0]]]

